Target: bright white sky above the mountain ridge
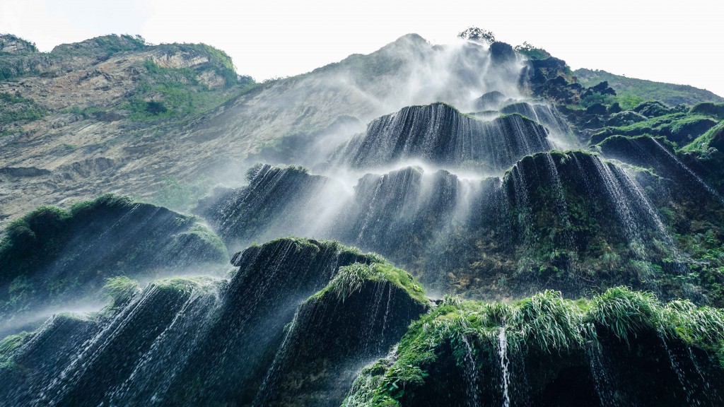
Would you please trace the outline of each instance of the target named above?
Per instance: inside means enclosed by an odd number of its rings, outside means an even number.
[[[368,54],[406,33],[445,43],[470,25],[529,41],[573,69],[601,69],[724,96],[720,0],[0,0],[0,33],[41,51],[107,33],[203,42],[256,80]]]

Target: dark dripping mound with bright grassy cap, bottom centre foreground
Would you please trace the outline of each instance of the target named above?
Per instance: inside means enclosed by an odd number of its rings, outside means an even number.
[[[342,267],[298,309],[256,405],[339,406],[360,366],[384,356],[428,306],[403,270]]]

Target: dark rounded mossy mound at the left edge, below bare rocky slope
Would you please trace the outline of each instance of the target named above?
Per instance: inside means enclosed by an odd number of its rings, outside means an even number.
[[[0,242],[0,312],[80,300],[108,277],[153,277],[158,269],[224,264],[221,240],[195,217],[105,195],[70,211],[35,209]]]

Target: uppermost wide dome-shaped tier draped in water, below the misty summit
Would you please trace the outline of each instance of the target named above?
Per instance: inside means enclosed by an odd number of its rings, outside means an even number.
[[[547,135],[545,127],[519,114],[483,122],[447,104],[408,106],[373,120],[333,161],[362,169],[408,160],[448,167],[479,161],[499,171],[526,154],[549,150]]]

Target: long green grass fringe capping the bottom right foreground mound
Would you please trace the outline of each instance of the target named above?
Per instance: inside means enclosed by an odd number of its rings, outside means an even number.
[[[586,342],[611,332],[624,343],[643,332],[668,335],[689,346],[724,345],[724,311],[689,301],[660,303],[652,293],[612,288],[590,301],[565,300],[544,291],[517,303],[446,299],[413,324],[395,353],[368,366],[345,403],[397,406],[405,393],[425,386],[429,369],[449,346],[458,366],[471,351],[497,358],[505,340],[510,353],[584,351]],[[497,359],[494,359],[497,363]]]

